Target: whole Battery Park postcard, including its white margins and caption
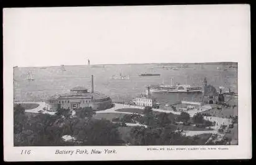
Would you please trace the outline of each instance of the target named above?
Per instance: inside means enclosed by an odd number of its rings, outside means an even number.
[[[249,6],[3,13],[9,159],[250,157]]]

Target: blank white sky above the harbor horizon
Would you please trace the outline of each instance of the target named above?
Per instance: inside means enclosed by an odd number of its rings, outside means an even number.
[[[13,66],[238,62],[250,52],[250,6],[12,8],[3,11]]]

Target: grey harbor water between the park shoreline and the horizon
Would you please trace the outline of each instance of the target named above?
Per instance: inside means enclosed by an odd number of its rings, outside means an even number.
[[[204,77],[207,84],[219,90],[231,88],[237,92],[237,69],[224,68],[222,64],[195,65],[176,69],[162,68],[163,64],[124,64],[124,65],[79,65],[62,67],[18,67],[14,68],[14,101],[42,101],[52,95],[69,93],[73,87],[81,86],[90,90],[90,77],[94,75],[94,90],[109,95],[113,101],[131,101],[136,95],[145,93],[147,85],[174,83],[202,87]],[[173,65],[172,65],[173,67]],[[31,72],[34,80],[27,80]],[[130,75],[129,80],[111,79],[113,75]],[[159,73],[160,76],[140,77],[141,73]],[[179,100],[199,101],[201,93],[152,93],[159,103]],[[237,100],[236,100],[237,101]]]

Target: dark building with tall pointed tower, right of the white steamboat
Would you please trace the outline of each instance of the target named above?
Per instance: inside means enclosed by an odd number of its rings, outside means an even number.
[[[203,103],[206,104],[216,104],[216,103],[224,103],[224,95],[222,90],[218,93],[216,88],[212,85],[207,85],[207,80],[204,78],[204,91],[202,93]]]

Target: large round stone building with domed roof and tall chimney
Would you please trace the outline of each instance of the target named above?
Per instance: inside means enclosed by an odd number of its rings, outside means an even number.
[[[91,106],[93,110],[106,110],[111,108],[111,98],[99,92],[93,91],[93,75],[92,89],[90,92],[83,87],[75,87],[70,90],[70,93],[55,96],[47,100],[49,111],[57,110],[58,108],[75,110],[78,108]]]

